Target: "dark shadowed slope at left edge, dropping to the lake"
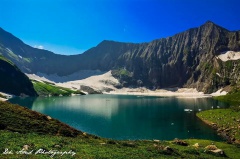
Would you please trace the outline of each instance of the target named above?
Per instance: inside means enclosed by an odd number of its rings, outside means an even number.
[[[28,77],[13,63],[0,56],[0,91],[14,95],[37,96]]]

